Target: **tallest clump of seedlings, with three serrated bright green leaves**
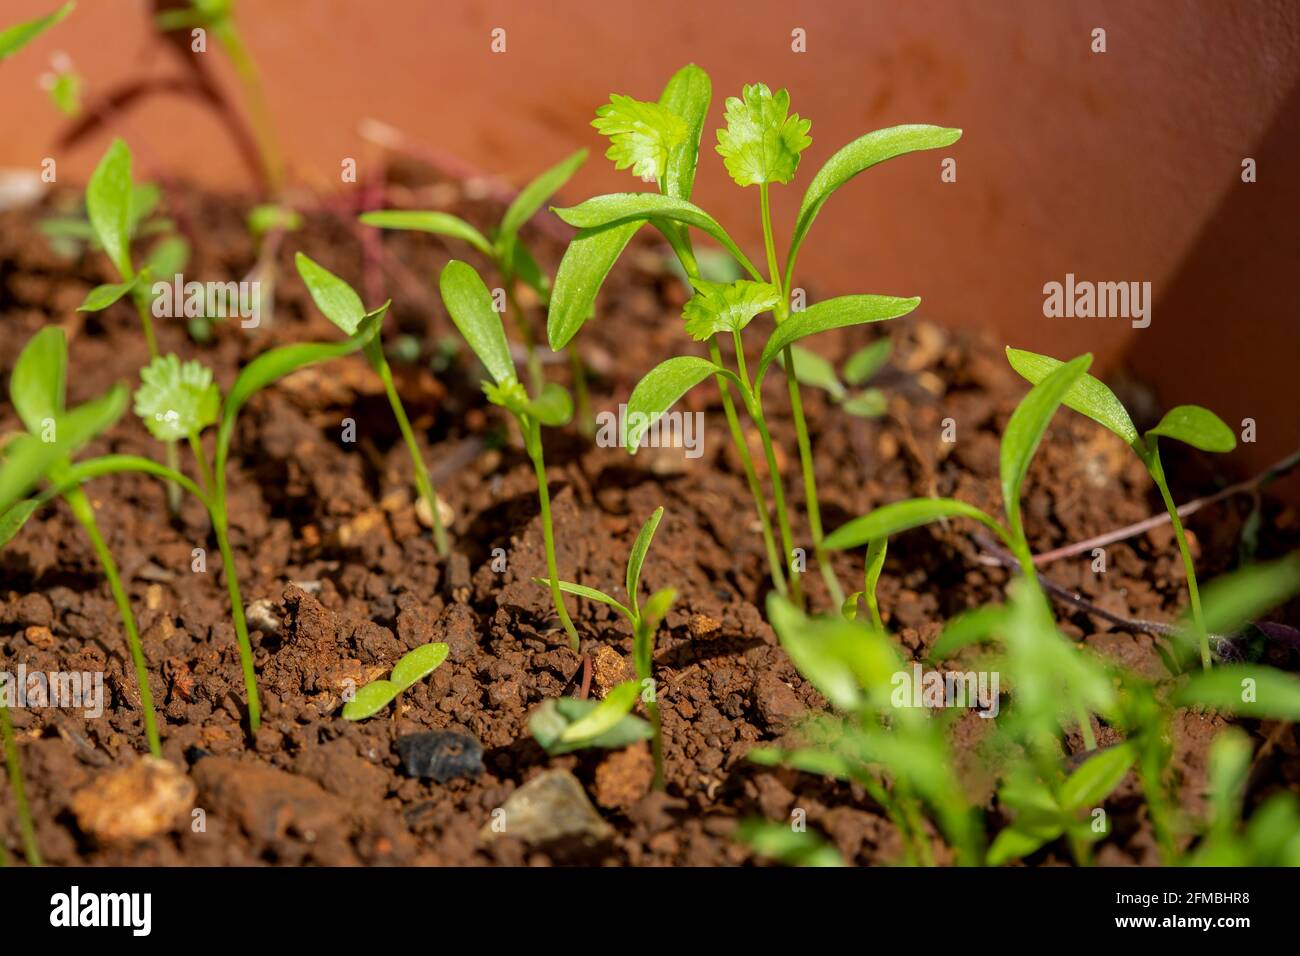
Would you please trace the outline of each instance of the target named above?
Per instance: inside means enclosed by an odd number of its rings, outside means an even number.
[[[693,299],[696,304],[690,307],[690,311],[697,313],[693,334],[701,341],[711,339],[711,362],[696,364],[699,360],[692,360],[688,364],[670,359],[659,365],[642,380],[641,386],[638,386],[640,395],[633,393],[642,399],[642,406],[636,411],[653,420],[667,411],[694,385],[710,376],[720,376],[725,369],[722,362],[719,337],[731,333],[733,343],[737,345],[736,362],[737,372],[740,372],[738,376],[732,376],[732,381],[740,388],[741,397],[746,399],[748,411],[763,441],[764,455],[768,459],[768,473],[772,480],[772,503],[781,532],[781,544],[786,553],[785,574],[790,576],[790,594],[800,600],[798,561],[789,532],[784,493],[780,489],[776,470],[772,467],[775,454],[767,434],[762,403],[757,401],[762,390],[762,378],[777,356],[784,356],[786,367],[793,365],[794,359],[790,349],[806,336],[824,329],[894,319],[910,312],[919,302],[919,299],[892,297],[850,295],[831,299],[792,315],[790,295],[800,246],[822,206],[841,185],[862,170],[893,156],[949,146],[961,137],[961,130],[937,126],[897,126],[870,133],[840,150],[812,178],[803,196],[783,272],[777,264],[772,237],[768,190],[772,183],[788,183],[793,179],[800,156],[811,143],[807,135],[810,124],[801,120],[798,114],[789,113],[789,94],[786,91],[780,90],[774,94],[762,83],[746,86],[741,98],[731,98],[727,101],[727,126],[718,131],[718,152],[723,156],[727,172],[737,185],[757,185],[759,187],[759,215],[767,254],[767,276],[764,277],[718,221],[689,202],[698,160],[699,133],[708,111],[710,98],[711,85],[707,74],[696,66],[688,66],[673,77],[658,103],[641,103],[628,96],[614,95],[610,104],[598,111],[594,125],[611,139],[612,144],[607,153],[610,159],[620,169],[630,166],[634,174],[655,181],[659,193],[612,194],[597,196],[569,209],[556,209],[560,219],[577,226],[580,232],[556,272],[555,290],[547,317],[547,334],[552,349],[563,347],[573,338],[592,312],[594,298],[610,268],[641,225],[651,222],[664,234],[680,258],[697,293],[696,299]],[[690,229],[697,229],[719,242],[750,276],[750,280],[741,280],[731,285],[702,284],[690,245]],[[776,329],[768,338],[755,377],[750,381],[742,368],[744,350],[738,347],[740,330],[764,311],[774,313]],[[690,319],[689,313],[688,319]],[[798,381],[794,376],[789,376],[788,382],[814,550],[827,589],[832,600],[840,604],[844,594],[823,545],[812,450],[803,419]],[[737,449],[742,449],[744,436],[733,420],[733,410],[728,407],[729,395],[725,386],[723,388],[723,402],[728,411],[728,424],[732,425],[732,438]],[[629,399],[629,421],[632,412],[633,407]],[[634,447],[630,441],[629,447]],[[748,451],[742,451],[742,460],[746,455]],[[764,545],[772,566],[772,581],[779,592],[784,592],[785,584],[781,572],[777,571],[779,564],[772,561],[775,544],[771,538],[766,502],[755,490],[757,480],[751,463],[746,464],[746,479],[750,480],[760,524],[764,528]]]

